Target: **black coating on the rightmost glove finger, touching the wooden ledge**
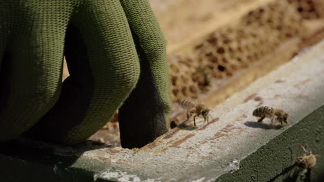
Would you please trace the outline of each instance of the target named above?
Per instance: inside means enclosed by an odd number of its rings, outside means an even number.
[[[133,32],[134,41],[138,37]],[[167,132],[165,107],[156,87],[150,64],[139,43],[135,43],[141,74],[136,88],[119,109],[120,140],[123,148],[141,148]]]

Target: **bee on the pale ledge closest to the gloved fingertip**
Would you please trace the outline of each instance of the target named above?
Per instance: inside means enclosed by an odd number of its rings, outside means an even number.
[[[196,117],[199,117],[200,115],[204,117],[204,121],[208,123],[208,118],[210,117],[209,112],[210,109],[206,108],[206,106],[202,103],[195,103],[193,101],[188,100],[181,100],[179,101],[179,105],[181,105],[182,108],[187,109],[187,119],[190,118],[190,113],[195,114],[194,117],[194,126],[196,127]]]

